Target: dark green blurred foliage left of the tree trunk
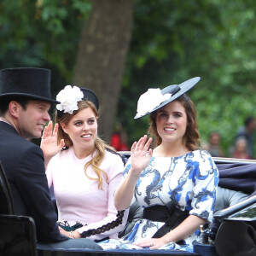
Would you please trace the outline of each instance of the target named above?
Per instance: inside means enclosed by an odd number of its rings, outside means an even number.
[[[2,0],[1,66],[49,67],[61,81],[71,80],[81,27],[90,9],[86,0]]]

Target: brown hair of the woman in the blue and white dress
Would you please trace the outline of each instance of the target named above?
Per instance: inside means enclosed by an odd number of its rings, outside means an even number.
[[[199,145],[200,145],[200,134],[199,134],[198,125],[196,121],[197,113],[196,113],[195,105],[189,99],[189,96],[187,96],[186,94],[179,96],[175,101],[181,102],[181,104],[183,105],[183,108],[185,108],[188,125],[187,125],[187,129],[185,131],[183,139],[186,147],[189,150],[193,151],[199,148]],[[162,139],[159,136],[156,128],[156,115],[160,109],[151,113],[150,120],[149,120],[148,133],[152,137],[154,137],[155,146],[158,146],[160,145],[160,143],[162,143]]]

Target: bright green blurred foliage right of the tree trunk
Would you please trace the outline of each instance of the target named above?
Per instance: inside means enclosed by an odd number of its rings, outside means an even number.
[[[130,143],[147,132],[147,118],[132,119],[144,91],[200,76],[189,96],[201,140],[218,131],[229,156],[236,131],[255,115],[255,7],[253,1],[136,1],[119,104]]]

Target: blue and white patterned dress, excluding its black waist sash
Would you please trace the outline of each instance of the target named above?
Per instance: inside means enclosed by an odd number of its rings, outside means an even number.
[[[131,169],[128,160],[124,178]],[[141,207],[165,206],[174,201],[177,208],[188,210],[207,222],[212,222],[216,200],[218,170],[211,155],[201,149],[178,157],[152,157],[147,168],[141,173],[135,188],[135,199]],[[138,239],[154,236],[163,222],[140,219],[131,233],[121,239],[124,247],[132,247]],[[160,249],[177,249],[193,252],[196,234],[183,241],[183,245],[169,243]]]

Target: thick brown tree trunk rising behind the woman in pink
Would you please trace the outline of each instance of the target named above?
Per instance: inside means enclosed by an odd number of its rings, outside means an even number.
[[[93,0],[84,21],[73,69],[73,84],[96,92],[99,134],[109,141],[116,118],[133,19],[132,0]]]

